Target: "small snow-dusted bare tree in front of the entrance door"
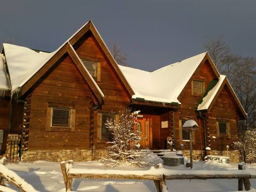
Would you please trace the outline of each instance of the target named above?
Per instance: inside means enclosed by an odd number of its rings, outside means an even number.
[[[131,110],[119,112],[119,119],[107,119],[106,127],[113,134],[113,140],[109,141],[107,147],[107,155],[99,161],[107,167],[114,167],[129,163],[134,166],[145,167],[156,165],[156,160],[145,159],[149,155],[149,151],[140,150],[139,142],[141,132],[134,129],[137,114],[131,113]]]

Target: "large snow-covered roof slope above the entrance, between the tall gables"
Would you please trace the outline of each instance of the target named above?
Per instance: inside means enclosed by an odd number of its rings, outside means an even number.
[[[181,91],[205,55],[206,52],[153,72],[120,65],[119,68],[122,70],[122,73],[135,93],[132,98],[142,98],[147,101],[156,102],[180,103],[178,97]]]

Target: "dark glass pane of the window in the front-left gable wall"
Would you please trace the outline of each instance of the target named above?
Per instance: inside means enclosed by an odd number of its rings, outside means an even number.
[[[70,127],[70,109],[52,108],[52,126]]]

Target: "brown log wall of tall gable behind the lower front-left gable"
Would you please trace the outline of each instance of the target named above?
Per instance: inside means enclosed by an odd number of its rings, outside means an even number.
[[[131,95],[90,31],[79,39],[74,45],[74,49],[80,58],[98,62],[100,65],[100,78],[95,78],[95,81],[104,94],[104,104],[101,109],[94,111],[93,140],[96,149],[103,149],[107,146],[107,140],[100,138],[98,113],[118,113],[124,110],[130,103]]]

